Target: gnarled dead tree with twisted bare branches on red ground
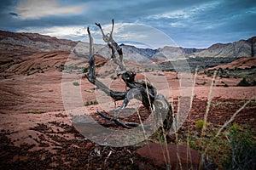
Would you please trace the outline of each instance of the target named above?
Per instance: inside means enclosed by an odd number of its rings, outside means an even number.
[[[114,26],[113,20],[112,24]],[[148,110],[150,109],[151,111],[154,111],[155,119],[162,119],[162,127],[164,127],[166,131],[168,131],[172,127],[172,122],[174,119],[171,105],[167,102],[162,94],[157,94],[156,88],[154,88],[154,85],[151,82],[148,82],[146,80],[135,80],[136,72],[128,71],[125,68],[122,48],[120,48],[118,43],[113,40],[113,26],[110,34],[108,35],[104,34],[104,31],[102,30],[102,26],[100,24],[96,23],[96,26],[98,26],[102,31],[102,38],[104,42],[107,42],[108,47],[111,48],[111,59],[116,65],[119,65],[119,71],[117,72],[117,76],[121,76],[128,89],[124,92],[113,91],[102,82],[97,80],[95,72],[95,54],[93,47],[94,42],[93,38],[90,35],[89,27],[87,28],[87,31],[90,38],[90,70],[85,75],[85,77],[87,77],[87,79],[91,83],[95,84],[97,88],[101,89],[104,93],[111,96],[111,98],[113,98],[114,100],[124,100],[123,104],[119,107],[119,109],[115,110],[116,112],[121,113],[121,111],[125,109],[131,99],[138,99],[142,101],[143,105]],[[119,55],[119,59],[117,59],[116,54]],[[121,122],[119,121],[118,117],[108,117],[101,111],[97,111],[97,114],[107,119],[108,121],[115,122],[117,125],[122,127],[131,128],[141,126],[140,124],[135,122]]]

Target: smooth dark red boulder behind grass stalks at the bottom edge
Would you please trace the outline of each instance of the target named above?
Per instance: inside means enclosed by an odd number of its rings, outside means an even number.
[[[150,143],[137,150],[143,158],[139,169],[200,169],[201,155],[177,144]]]

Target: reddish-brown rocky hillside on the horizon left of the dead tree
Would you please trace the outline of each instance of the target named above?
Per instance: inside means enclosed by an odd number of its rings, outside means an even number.
[[[29,56],[36,52],[54,50],[69,51],[77,42],[56,37],[43,36],[37,33],[14,33],[0,31],[0,61]]]

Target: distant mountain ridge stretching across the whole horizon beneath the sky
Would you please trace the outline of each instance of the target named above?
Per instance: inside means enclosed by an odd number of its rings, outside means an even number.
[[[0,31],[0,56],[9,55],[29,55],[36,52],[62,50],[71,51],[77,48],[79,42],[72,40],[58,39],[56,37],[43,36],[38,33],[14,33],[10,31]],[[81,49],[89,48],[88,42],[81,42]],[[210,57],[210,58],[241,58],[243,56],[256,55],[256,37],[247,40],[230,43],[216,43],[209,48],[181,48],[169,47],[151,49],[137,48],[131,45],[120,45],[123,48],[125,59],[133,59],[137,62],[166,61],[172,59]],[[110,54],[106,46],[95,44],[96,52],[102,54],[103,57]]]

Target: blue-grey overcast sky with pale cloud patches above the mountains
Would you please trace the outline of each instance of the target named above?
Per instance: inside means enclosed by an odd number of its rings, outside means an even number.
[[[174,42],[184,48],[207,48],[256,36],[256,1],[7,0],[0,2],[0,19],[0,30],[76,41],[87,41],[85,28],[90,26],[96,42],[100,32],[94,23],[109,30],[114,19],[113,36],[119,42],[133,40],[153,48]]]

